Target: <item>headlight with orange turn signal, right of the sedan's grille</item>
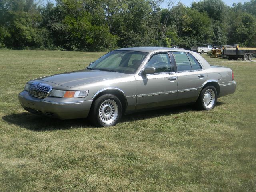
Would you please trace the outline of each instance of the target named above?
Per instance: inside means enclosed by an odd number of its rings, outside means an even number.
[[[81,90],[81,91],[62,91],[53,89],[49,96],[52,97],[62,97],[62,98],[77,98],[77,97],[86,97],[88,95],[89,90]]]

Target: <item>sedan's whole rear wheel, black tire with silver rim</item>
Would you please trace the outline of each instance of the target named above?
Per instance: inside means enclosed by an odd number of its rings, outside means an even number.
[[[210,94],[209,94],[210,92]],[[205,96],[206,94],[206,96]],[[209,94],[209,95],[207,95]],[[209,100],[209,105],[207,106],[206,102],[204,102],[204,97],[205,100]],[[203,90],[200,92],[200,95],[198,97],[198,100],[196,102],[196,105],[199,109],[201,110],[211,110],[216,106],[217,103],[217,91],[214,86],[206,86],[203,88]]]

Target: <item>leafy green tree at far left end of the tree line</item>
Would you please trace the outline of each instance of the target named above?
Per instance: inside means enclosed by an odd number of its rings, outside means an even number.
[[[12,48],[36,44],[33,36],[41,17],[33,0],[3,0],[0,3],[0,16],[2,44]]]

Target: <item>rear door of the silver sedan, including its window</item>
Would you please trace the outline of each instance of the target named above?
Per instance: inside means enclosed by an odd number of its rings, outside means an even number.
[[[196,101],[207,73],[198,60],[188,52],[172,52],[177,75],[178,102]]]

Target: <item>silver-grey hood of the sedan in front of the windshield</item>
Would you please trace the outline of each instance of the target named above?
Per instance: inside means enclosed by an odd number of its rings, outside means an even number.
[[[130,74],[85,69],[80,71],[66,72],[62,74],[41,77],[35,80],[51,82],[61,86],[74,87],[97,81],[126,77],[129,75]]]

